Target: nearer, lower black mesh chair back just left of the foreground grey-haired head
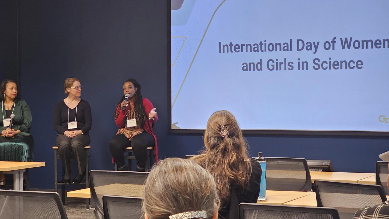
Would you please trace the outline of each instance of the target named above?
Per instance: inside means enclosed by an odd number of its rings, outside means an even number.
[[[103,196],[104,219],[144,219],[139,197]]]

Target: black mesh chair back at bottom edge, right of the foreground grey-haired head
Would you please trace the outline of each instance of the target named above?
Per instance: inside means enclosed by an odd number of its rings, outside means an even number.
[[[239,219],[339,219],[335,208],[240,203]]]

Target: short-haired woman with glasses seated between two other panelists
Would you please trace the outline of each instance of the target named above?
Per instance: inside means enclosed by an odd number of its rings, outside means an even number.
[[[91,139],[92,114],[89,103],[80,98],[82,85],[80,80],[69,77],[64,84],[67,98],[61,100],[54,108],[54,130],[58,135],[56,145],[62,160],[63,182],[70,184],[70,155],[77,158],[78,174],[72,183],[78,184],[85,177],[86,151],[84,149]]]

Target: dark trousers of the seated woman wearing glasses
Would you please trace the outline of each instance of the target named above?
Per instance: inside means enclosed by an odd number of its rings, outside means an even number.
[[[69,138],[66,135],[58,135],[55,142],[58,146],[60,159],[62,160],[65,179],[70,179],[70,157],[72,154],[77,159],[78,173],[84,173],[86,166],[86,151],[84,147],[91,143],[89,135],[77,135],[74,138]]]

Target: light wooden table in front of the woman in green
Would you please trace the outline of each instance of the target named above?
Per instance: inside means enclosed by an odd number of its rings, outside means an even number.
[[[23,190],[23,173],[28,168],[45,166],[44,162],[0,161],[0,173],[14,174],[14,190]]]

